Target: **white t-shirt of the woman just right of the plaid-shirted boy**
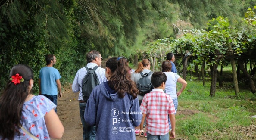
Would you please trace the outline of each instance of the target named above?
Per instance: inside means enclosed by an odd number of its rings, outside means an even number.
[[[176,83],[180,76],[173,72],[164,72],[167,76],[167,81],[165,83],[165,91],[172,99],[177,98]]]

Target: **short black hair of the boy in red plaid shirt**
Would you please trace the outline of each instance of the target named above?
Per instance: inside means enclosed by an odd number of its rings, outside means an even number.
[[[165,83],[166,80],[167,80],[167,76],[165,75],[165,73],[163,73],[161,71],[154,72],[151,77],[151,83],[154,88],[161,86],[161,84],[163,82]]]

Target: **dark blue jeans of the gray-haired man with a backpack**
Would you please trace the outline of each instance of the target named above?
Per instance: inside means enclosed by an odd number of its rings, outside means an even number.
[[[96,137],[96,127],[89,126],[84,120],[84,110],[86,103],[79,103],[80,117],[83,124],[83,140],[95,140]]]

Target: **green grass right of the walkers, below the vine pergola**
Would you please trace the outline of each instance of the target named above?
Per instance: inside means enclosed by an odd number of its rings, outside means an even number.
[[[241,127],[256,125],[256,95],[249,89],[239,89],[235,96],[233,88],[217,87],[215,97],[210,97],[211,81],[206,78],[206,86],[202,81],[187,80],[188,86],[178,98],[179,106],[176,114],[176,138],[182,139],[253,139],[246,132],[239,131]],[[181,85],[178,84],[178,89]],[[179,114],[179,111],[192,110],[194,114]]]

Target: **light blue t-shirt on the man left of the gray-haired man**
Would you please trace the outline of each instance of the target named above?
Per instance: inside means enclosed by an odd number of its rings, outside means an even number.
[[[39,78],[41,79],[41,94],[58,95],[58,87],[56,80],[61,78],[61,75],[54,67],[43,67],[40,70]]]

